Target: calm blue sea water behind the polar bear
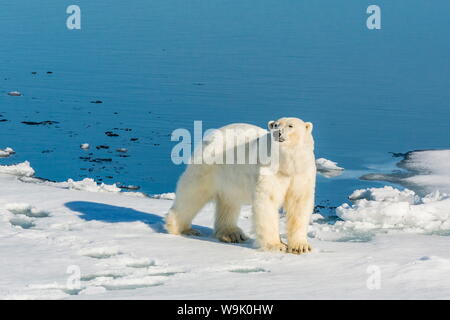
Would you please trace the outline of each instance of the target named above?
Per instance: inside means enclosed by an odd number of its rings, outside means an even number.
[[[81,30],[66,27],[72,4]],[[366,27],[371,4],[380,30]],[[171,192],[183,170],[170,159],[173,130],[294,116],[314,123],[316,155],[346,168],[318,180],[318,202],[339,205],[377,185],[358,178],[391,170],[389,152],[449,147],[448,0],[16,0],[0,9],[0,148],[17,151],[0,162],[29,160],[40,177]],[[15,90],[23,96],[7,95]],[[58,123],[22,123],[47,120]],[[89,153],[111,161],[82,159]]]

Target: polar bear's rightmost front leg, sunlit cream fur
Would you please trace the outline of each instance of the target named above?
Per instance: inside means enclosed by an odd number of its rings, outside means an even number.
[[[303,189],[299,196],[289,195],[285,201],[285,209],[288,252],[296,254],[311,252],[312,247],[308,243],[307,233],[314,210],[314,190]]]

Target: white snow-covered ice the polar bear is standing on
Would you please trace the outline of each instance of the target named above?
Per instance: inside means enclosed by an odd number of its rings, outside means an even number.
[[[443,194],[355,191],[353,206],[337,210],[344,221],[314,214],[313,253],[291,255],[218,242],[212,205],[194,220],[202,237],[174,236],[163,226],[172,194],[130,197],[93,180],[3,172],[12,173],[0,174],[3,299],[449,298],[450,238],[409,232],[447,230]],[[254,237],[250,220],[244,207],[239,225]],[[284,227],[282,215],[286,239]]]

